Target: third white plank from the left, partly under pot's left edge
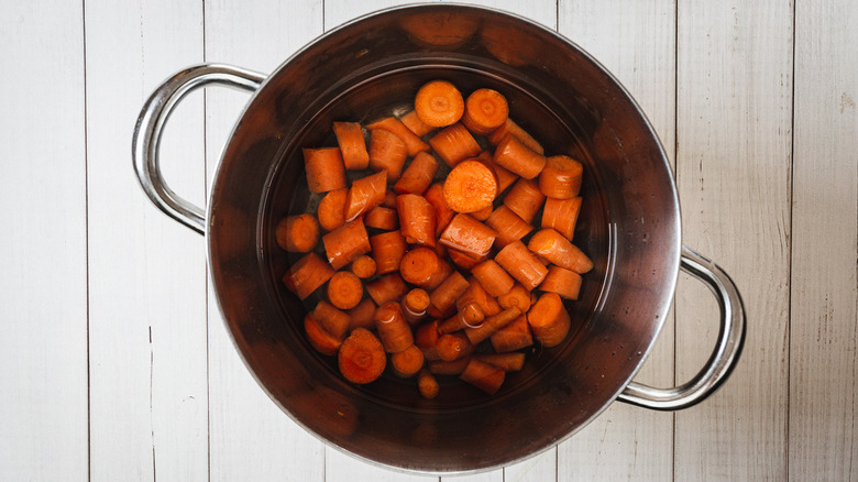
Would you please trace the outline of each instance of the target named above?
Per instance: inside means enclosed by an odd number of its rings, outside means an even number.
[[[322,29],[320,0],[216,1],[206,2],[205,10],[206,59],[263,73]],[[224,88],[206,89],[209,180],[249,98]],[[209,291],[211,480],[323,480],[323,445],[284,414],[250,374]]]

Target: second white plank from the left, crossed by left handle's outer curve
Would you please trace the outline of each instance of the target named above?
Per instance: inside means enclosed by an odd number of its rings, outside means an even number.
[[[91,479],[208,478],[202,237],[138,185],[131,132],[164,78],[202,58],[200,3],[87,2]],[[201,202],[201,98],[162,149],[165,178]]]

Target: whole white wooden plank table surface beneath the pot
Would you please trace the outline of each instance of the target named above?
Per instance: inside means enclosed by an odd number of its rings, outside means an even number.
[[[131,167],[150,91],[204,61],[271,72],[393,1],[0,2],[0,479],[436,480],[353,460],[252,380],[208,284],[202,237]],[[615,403],[480,481],[858,480],[858,3],[496,0],[559,30],[629,88],[671,158],[683,241],[736,281],[739,366],[703,404]],[[165,172],[201,205],[246,101],[183,103]],[[668,386],[716,333],[705,288],[638,380]],[[444,478],[444,480],[452,478]]]

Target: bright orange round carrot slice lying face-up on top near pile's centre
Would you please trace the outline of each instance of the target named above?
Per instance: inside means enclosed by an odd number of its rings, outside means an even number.
[[[497,195],[495,173],[476,160],[459,163],[443,184],[447,206],[455,212],[475,212],[492,207]]]

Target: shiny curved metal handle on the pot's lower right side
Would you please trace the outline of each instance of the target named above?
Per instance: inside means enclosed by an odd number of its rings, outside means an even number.
[[[721,308],[721,332],[710,360],[693,379],[672,388],[656,388],[631,382],[617,399],[659,410],[675,410],[695,405],[710,396],[727,379],[741,353],[745,341],[745,308],[736,285],[715,263],[682,247],[682,271],[712,289]]]

